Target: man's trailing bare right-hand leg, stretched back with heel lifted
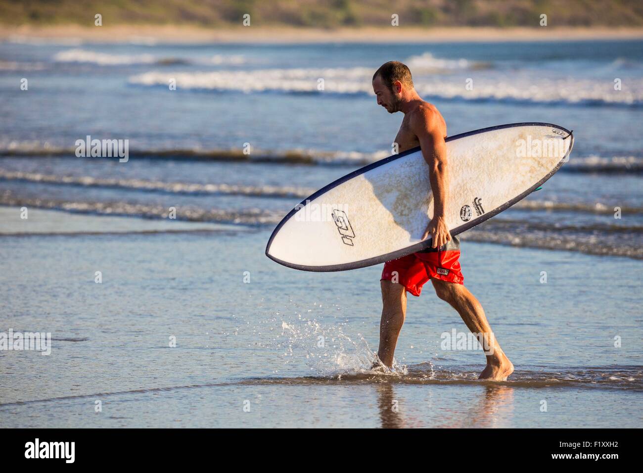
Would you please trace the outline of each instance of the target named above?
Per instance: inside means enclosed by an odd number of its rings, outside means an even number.
[[[485,339],[489,340],[487,343],[491,350],[485,352],[487,366],[480,374],[480,378],[497,381],[506,380],[507,376],[513,373],[514,366],[502,351],[502,348],[500,348],[500,344],[496,342],[478,299],[462,284],[447,283],[435,278],[431,279],[431,283],[433,283],[438,297],[443,301],[449,302],[458,311],[471,332],[484,333]],[[480,342],[482,343],[482,340]]]

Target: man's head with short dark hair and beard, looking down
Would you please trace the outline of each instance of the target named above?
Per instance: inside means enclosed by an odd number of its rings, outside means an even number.
[[[385,107],[388,113],[399,111],[407,93],[413,90],[411,71],[397,60],[385,62],[373,75],[377,105]]]

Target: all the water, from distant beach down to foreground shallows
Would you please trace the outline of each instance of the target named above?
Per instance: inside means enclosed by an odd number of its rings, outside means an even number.
[[[296,203],[390,154],[402,116],[369,88],[392,59],[449,134],[574,130],[542,190],[462,234],[507,382],[476,380],[479,350],[442,348],[466,328],[430,286],[394,372],[368,371],[381,265],[264,255]],[[53,340],[0,351],[0,425],[639,427],[642,73],[642,41],[1,43],[0,332]],[[77,158],[87,135],[129,140],[129,161]]]

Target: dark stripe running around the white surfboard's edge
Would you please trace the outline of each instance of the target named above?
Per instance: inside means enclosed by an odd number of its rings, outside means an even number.
[[[545,126],[545,127],[552,127],[552,128],[557,128],[559,130],[565,131],[567,133],[567,136],[563,138],[563,140],[566,140],[567,138],[571,138],[572,142],[569,145],[569,149],[567,150],[567,153],[565,153],[565,156],[563,156],[563,159],[560,160],[560,162],[556,165],[552,171],[550,171],[547,176],[545,176],[543,179],[532,185],[529,189],[525,190],[522,194],[519,196],[516,196],[515,198],[511,199],[510,201],[507,201],[503,203],[498,209],[494,209],[491,212],[487,212],[485,214],[482,214],[482,216],[473,219],[464,225],[460,225],[460,227],[456,227],[453,230],[451,230],[451,236],[456,236],[458,234],[461,234],[462,232],[466,232],[466,230],[469,230],[470,228],[475,227],[476,225],[480,225],[480,223],[483,223],[487,221],[488,219],[492,218],[493,216],[496,216],[497,214],[500,214],[503,210],[509,209],[512,205],[515,203],[521,201],[525,197],[529,196],[534,190],[536,190],[539,186],[543,185],[550,177],[552,177],[554,174],[556,174],[556,171],[560,169],[560,167],[567,162],[567,158],[569,154],[572,152],[572,147],[574,147],[574,132],[566,129],[565,127],[561,127],[560,125],[554,125],[552,123],[543,123],[543,122],[523,122],[523,123],[509,123],[505,125],[496,125],[493,127],[487,127],[487,128],[480,128],[478,130],[473,130],[473,131],[467,131],[466,133],[460,133],[460,134],[455,134],[453,136],[447,136],[444,138],[444,142],[448,143],[453,140],[457,140],[458,138],[466,138],[467,136],[472,136],[475,134],[480,134],[480,133],[485,133],[487,131],[494,131],[494,130],[501,130],[504,128],[516,128],[516,127],[523,127],[523,126]],[[334,189],[338,185],[351,180],[355,176],[359,176],[359,174],[364,174],[365,172],[370,171],[371,169],[375,169],[376,167],[385,165],[386,163],[390,163],[392,161],[395,161],[399,158],[403,158],[404,156],[408,156],[408,154],[415,153],[417,151],[421,151],[421,147],[416,146],[415,148],[408,149],[404,151],[403,153],[400,154],[392,154],[392,156],[388,156],[388,158],[384,158],[382,160],[379,160],[377,162],[371,163],[367,166],[361,167],[359,169],[356,169],[356,171],[350,172],[350,174],[347,174],[346,176],[342,176],[336,181],[332,181],[329,185],[326,185],[322,187],[320,190],[317,192],[314,192],[307,198],[303,199],[300,203],[298,203],[293,210],[288,212],[288,214],[282,219],[282,221],[279,222],[279,224],[275,227],[275,230],[273,230],[273,233],[270,236],[270,239],[268,240],[268,243],[266,245],[266,256],[275,261],[276,263],[282,264],[283,266],[287,266],[288,268],[293,268],[296,270],[302,270],[302,271],[311,271],[311,272],[334,272],[334,271],[347,271],[347,270],[355,270],[359,268],[365,268],[367,266],[373,266],[374,264],[379,264],[379,263],[385,263],[386,261],[391,261],[392,259],[397,259],[401,258],[403,256],[419,252],[421,250],[424,250],[428,247],[431,246],[431,238],[423,240],[419,243],[415,243],[415,245],[407,246],[406,248],[402,248],[401,250],[397,250],[394,252],[390,252],[385,255],[379,255],[375,256],[372,258],[368,259],[362,259],[360,261],[353,261],[352,263],[343,263],[343,264],[328,264],[326,266],[307,266],[305,264],[294,264],[294,263],[289,263],[287,261],[283,261],[282,259],[276,258],[272,255],[269,254],[270,250],[270,245],[273,243],[273,239],[275,239],[275,235],[277,232],[285,225],[285,223],[294,215],[298,210],[301,209],[300,206],[305,205],[307,201],[312,201],[321,194],[324,194],[325,192]]]

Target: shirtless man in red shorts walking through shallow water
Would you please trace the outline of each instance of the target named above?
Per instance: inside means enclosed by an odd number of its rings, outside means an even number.
[[[466,287],[460,271],[460,241],[451,237],[444,209],[449,199],[446,123],[435,106],[424,102],[413,88],[411,71],[401,62],[383,64],[373,75],[373,90],[377,104],[388,113],[404,113],[395,143],[399,152],[418,145],[429,165],[433,190],[433,219],[422,239],[431,237],[432,246],[384,265],[381,277],[382,319],[379,328],[377,356],[382,364],[391,367],[397,337],[406,317],[406,292],[419,296],[422,286],[431,280],[435,293],[458,311],[467,328],[478,335],[487,357],[487,366],[480,378],[506,380],[514,366],[493,337],[484,310]]]

